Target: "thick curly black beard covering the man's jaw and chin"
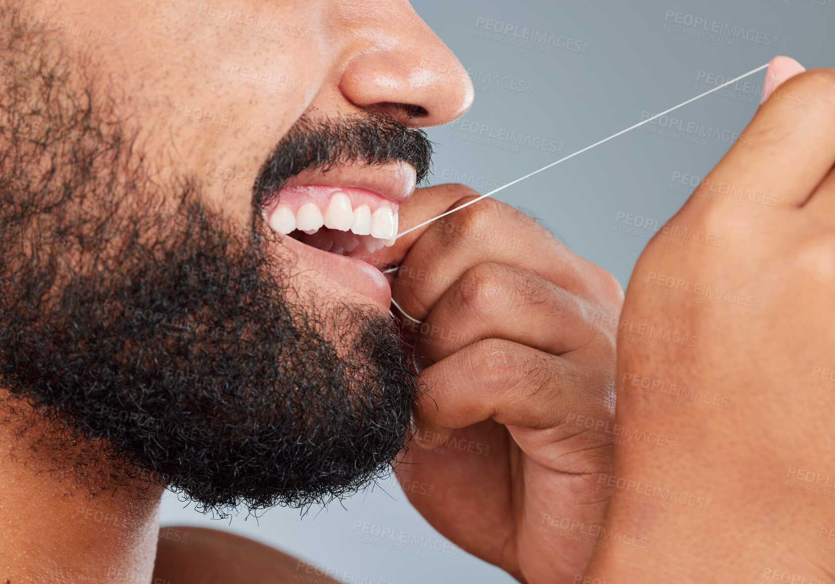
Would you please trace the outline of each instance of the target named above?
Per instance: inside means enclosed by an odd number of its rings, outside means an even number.
[[[81,59],[0,20],[0,423],[24,402],[91,492],[161,483],[220,516],[390,472],[417,389],[392,320],[298,300],[260,214],[242,229],[159,179]],[[327,149],[359,153],[353,128]]]

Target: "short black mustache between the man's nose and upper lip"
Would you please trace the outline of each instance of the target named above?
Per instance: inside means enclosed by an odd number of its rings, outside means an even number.
[[[256,209],[271,199],[291,176],[309,169],[327,171],[339,164],[383,166],[411,164],[417,184],[426,179],[433,143],[419,128],[408,128],[386,113],[357,113],[335,118],[302,115],[262,165],[255,184]]]

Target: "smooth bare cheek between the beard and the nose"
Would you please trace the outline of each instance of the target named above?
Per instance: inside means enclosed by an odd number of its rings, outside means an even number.
[[[328,78],[341,51],[323,43],[318,3],[207,4],[202,12],[203,3],[178,2],[122,14],[133,30],[163,33],[126,38],[120,53],[100,51],[97,73],[129,96],[147,151],[164,153],[164,172],[194,175],[212,207],[245,221],[276,143],[312,103],[339,98]],[[137,27],[136,19],[153,23]]]

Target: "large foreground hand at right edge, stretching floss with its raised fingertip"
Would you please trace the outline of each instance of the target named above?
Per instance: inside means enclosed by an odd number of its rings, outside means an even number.
[[[783,83],[745,136],[667,227],[728,244],[656,239],[635,266],[616,416],[635,439],[582,582],[835,580],[835,71]]]

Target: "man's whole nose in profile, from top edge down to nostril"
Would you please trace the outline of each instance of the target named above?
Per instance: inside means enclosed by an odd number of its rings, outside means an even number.
[[[359,108],[384,112],[412,127],[452,122],[473,103],[473,83],[452,51],[402,0],[371,0],[340,78]],[[359,29],[359,30],[357,30]]]

